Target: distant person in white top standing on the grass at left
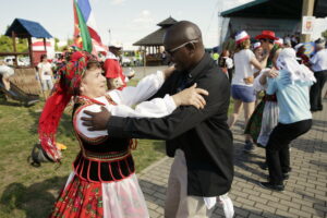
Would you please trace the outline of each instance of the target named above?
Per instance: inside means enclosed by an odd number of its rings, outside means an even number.
[[[53,72],[51,63],[48,62],[47,55],[41,55],[40,62],[37,64],[37,69],[43,90],[51,90],[53,88]]]

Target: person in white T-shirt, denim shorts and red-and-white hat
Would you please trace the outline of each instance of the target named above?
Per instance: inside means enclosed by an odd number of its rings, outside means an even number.
[[[231,95],[234,101],[233,113],[229,117],[230,128],[237,122],[242,106],[244,107],[245,126],[255,107],[255,90],[253,88],[254,68],[262,70],[261,63],[250,50],[250,36],[242,31],[235,36],[237,52],[234,53],[235,73],[232,80]],[[253,144],[249,134],[245,135],[245,145]]]

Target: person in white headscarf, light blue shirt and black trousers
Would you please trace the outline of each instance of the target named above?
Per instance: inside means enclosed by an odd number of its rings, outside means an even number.
[[[308,89],[316,80],[308,68],[296,61],[291,48],[280,51],[276,65],[279,74],[268,78],[267,94],[277,96],[279,118],[266,147],[269,179],[261,185],[283,191],[283,180],[291,170],[289,145],[312,126]]]

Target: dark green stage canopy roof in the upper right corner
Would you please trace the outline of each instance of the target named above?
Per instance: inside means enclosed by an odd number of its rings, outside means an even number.
[[[296,19],[302,17],[303,0],[255,0],[221,12],[226,17]],[[322,10],[322,8],[324,8]],[[327,0],[316,0],[314,16],[327,16]]]

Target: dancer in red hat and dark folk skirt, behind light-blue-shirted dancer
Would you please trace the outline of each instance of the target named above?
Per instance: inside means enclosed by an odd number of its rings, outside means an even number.
[[[275,40],[275,33],[270,31],[263,31],[261,35],[255,39],[261,41],[261,46],[268,52],[268,60],[266,68],[262,70],[259,75],[254,81],[254,88],[259,90],[266,90],[267,77],[276,77],[278,72],[276,71],[276,60],[280,48]],[[276,95],[267,95],[263,97],[263,100],[257,105],[252,113],[244,133],[250,134],[253,142],[261,147],[265,147],[269,138],[269,134],[278,122],[278,106]],[[251,149],[254,152],[255,147]]]

